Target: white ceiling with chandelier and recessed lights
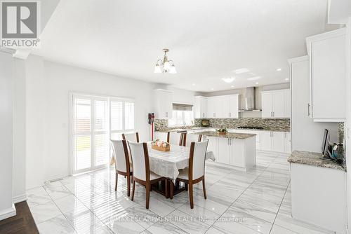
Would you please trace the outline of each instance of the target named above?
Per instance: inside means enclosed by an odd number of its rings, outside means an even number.
[[[61,0],[34,54],[201,92],[286,83],[286,60],[306,55],[326,11],[327,0]],[[178,74],[153,73],[163,48]]]

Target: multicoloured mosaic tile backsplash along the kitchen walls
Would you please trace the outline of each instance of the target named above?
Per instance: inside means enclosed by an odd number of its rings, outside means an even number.
[[[240,126],[261,127],[265,130],[275,130],[282,132],[290,131],[289,118],[209,118],[212,128],[238,128]],[[168,120],[155,119],[156,130],[169,129]],[[201,127],[201,118],[195,118],[194,127]]]

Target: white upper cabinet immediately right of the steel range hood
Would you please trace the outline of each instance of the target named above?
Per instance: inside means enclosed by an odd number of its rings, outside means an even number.
[[[290,90],[261,92],[262,118],[290,118]]]

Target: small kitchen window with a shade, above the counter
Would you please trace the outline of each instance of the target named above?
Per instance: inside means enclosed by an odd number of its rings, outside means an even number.
[[[168,121],[168,126],[189,126],[194,124],[194,112],[192,105],[173,104],[172,118]]]

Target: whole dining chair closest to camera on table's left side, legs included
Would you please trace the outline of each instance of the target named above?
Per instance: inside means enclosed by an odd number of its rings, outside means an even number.
[[[135,182],[142,184],[146,188],[146,209],[149,209],[150,190],[152,184],[156,184],[166,178],[150,171],[149,152],[147,151],[147,144],[128,142],[129,149],[131,149],[131,158],[133,163],[133,191],[131,200],[134,200]]]

